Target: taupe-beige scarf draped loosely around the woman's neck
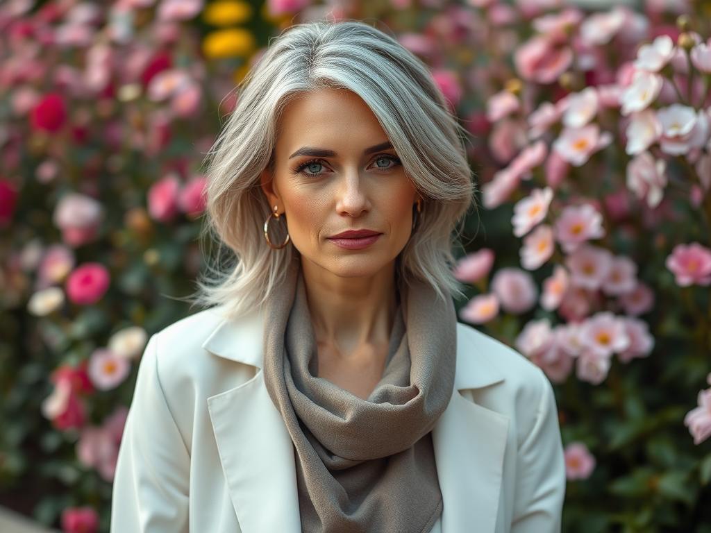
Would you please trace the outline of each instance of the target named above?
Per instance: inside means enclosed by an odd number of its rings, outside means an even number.
[[[298,259],[265,303],[264,382],[294,441],[302,532],[428,533],[442,514],[429,431],[454,389],[454,303],[424,283],[400,294],[367,400],[316,377]]]

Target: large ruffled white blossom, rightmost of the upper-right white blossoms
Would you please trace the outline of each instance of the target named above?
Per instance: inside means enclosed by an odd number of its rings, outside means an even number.
[[[678,156],[701,148],[709,138],[708,117],[700,110],[682,104],[671,104],[657,112],[661,124],[659,146],[665,154]]]

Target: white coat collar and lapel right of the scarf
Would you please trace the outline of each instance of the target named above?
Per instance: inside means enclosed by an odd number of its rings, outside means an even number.
[[[432,430],[444,500],[442,533],[496,530],[509,419],[459,394],[503,381],[503,375],[478,356],[474,340],[459,325],[454,392]]]

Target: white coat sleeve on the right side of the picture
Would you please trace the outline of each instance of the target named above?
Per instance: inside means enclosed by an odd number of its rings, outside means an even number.
[[[565,461],[553,389],[542,380],[533,428],[518,448],[517,486],[511,533],[560,532],[565,497]]]

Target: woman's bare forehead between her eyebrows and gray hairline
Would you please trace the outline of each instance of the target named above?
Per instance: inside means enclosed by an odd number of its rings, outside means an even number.
[[[387,141],[387,135],[368,104],[355,92],[319,89],[289,102],[279,118],[277,146],[363,144]],[[328,146],[326,146],[327,143]]]

